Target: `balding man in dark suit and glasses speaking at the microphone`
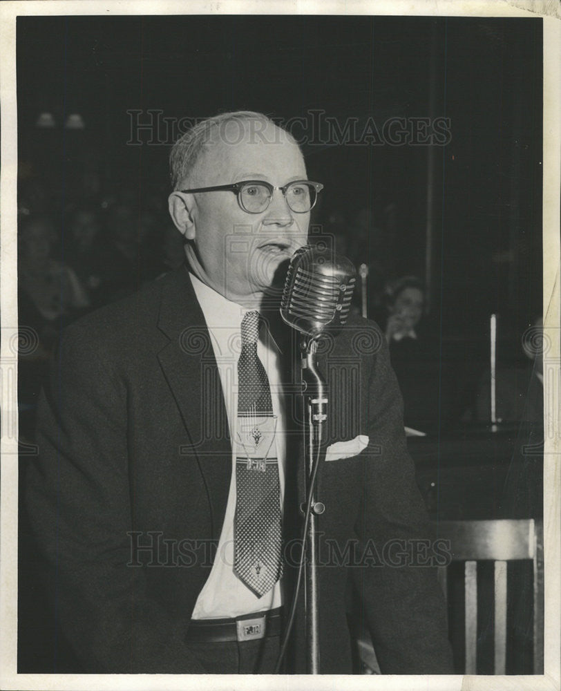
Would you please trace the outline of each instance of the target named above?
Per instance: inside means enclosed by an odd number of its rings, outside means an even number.
[[[322,186],[259,113],[197,124],[171,167],[187,267],[64,332],[28,509],[84,671],[272,673],[305,467],[278,286]],[[382,672],[450,672],[430,559],[410,549],[430,533],[383,337],[352,322],[320,365],[358,373],[328,442],[369,440],[321,468],[320,671],[352,670],[352,586]],[[306,671],[303,621],[300,604],[286,672]]]

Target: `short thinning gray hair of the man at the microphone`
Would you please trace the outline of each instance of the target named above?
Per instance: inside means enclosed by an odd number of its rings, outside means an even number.
[[[230,144],[235,143],[226,135],[227,124],[230,122],[238,123],[240,126],[238,133],[241,134],[243,132],[241,125],[251,120],[262,122],[265,125],[269,123],[274,124],[283,130],[278,123],[274,122],[267,115],[254,111],[220,113],[220,115],[207,117],[205,120],[200,120],[193,125],[191,129],[173,144],[169,155],[169,169],[173,189],[180,189],[189,180],[200,154],[211,142],[217,142],[222,137]],[[291,141],[295,141],[289,132],[287,132],[287,135]],[[260,132],[256,131],[256,137],[259,136]]]

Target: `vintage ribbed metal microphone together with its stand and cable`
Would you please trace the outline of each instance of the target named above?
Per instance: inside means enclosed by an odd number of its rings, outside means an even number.
[[[292,256],[281,299],[283,320],[302,334],[301,367],[304,409],[307,417],[305,435],[307,473],[306,502],[302,507],[305,549],[301,555],[296,589],[276,672],[280,669],[294,623],[298,590],[304,569],[307,672],[319,674],[316,515],[325,511],[325,505],[316,500],[314,485],[318,467],[325,457],[325,449],[322,451],[321,442],[327,422],[328,399],[325,379],[317,368],[316,352],[318,340],[327,331],[341,328],[347,321],[355,282],[354,266],[346,257],[336,256],[327,247],[305,245],[297,249]],[[304,563],[306,556],[307,560]]]

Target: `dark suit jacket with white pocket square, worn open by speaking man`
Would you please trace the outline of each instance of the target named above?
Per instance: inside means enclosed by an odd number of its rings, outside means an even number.
[[[184,632],[211,568],[231,475],[204,324],[182,267],[86,316],[61,339],[39,406],[40,456],[28,473],[27,505],[55,616],[87,672],[204,671]],[[362,453],[325,462],[319,473],[321,672],[351,669],[349,578],[382,672],[451,672],[434,572],[397,566],[409,545],[388,542],[431,533],[382,334],[351,321],[325,341],[319,363],[331,387],[327,443],[370,437]],[[298,523],[303,468],[290,453],[287,534]],[[365,565],[353,565],[350,548],[365,546]],[[290,583],[289,564],[286,574]],[[294,650],[289,671],[305,672],[301,609]]]

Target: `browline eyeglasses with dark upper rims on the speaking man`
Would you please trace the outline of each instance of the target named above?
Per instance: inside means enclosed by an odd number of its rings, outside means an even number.
[[[215,187],[198,187],[196,189],[182,189],[185,194],[195,192],[231,191],[238,196],[238,204],[248,214],[261,214],[273,198],[273,192],[280,189],[287,205],[296,214],[305,214],[314,208],[318,193],[323,189],[321,182],[310,180],[294,180],[284,187],[275,187],[264,180],[244,180],[234,184],[218,184]]]

